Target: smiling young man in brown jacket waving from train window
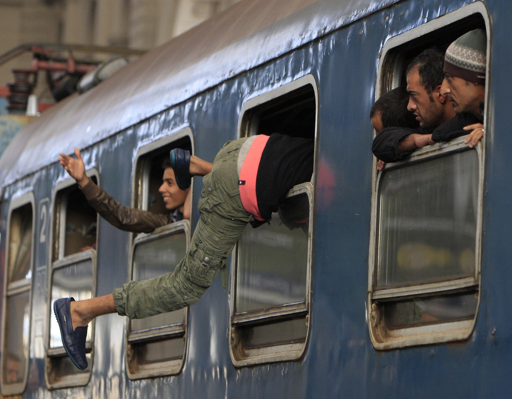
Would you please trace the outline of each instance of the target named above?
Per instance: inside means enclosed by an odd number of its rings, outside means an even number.
[[[134,233],[150,233],[157,227],[168,225],[174,221],[189,219],[190,188],[181,190],[176,184],[174,170],[167,159],[162,164],[163,177],[159,192],[168,209],[168,214],[157,214],[142,209],[123,206],[88,178],[85,172],[80,150],[75,148],[76,159],[61,153],[59,162],[75,179],[89,204],[114,227]]]

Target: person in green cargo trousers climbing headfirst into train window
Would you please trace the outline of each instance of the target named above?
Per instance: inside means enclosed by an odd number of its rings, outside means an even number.
[[[62,343],[79,369],[88,367],[87,325],[97,316],[117,313],[131,319],[172,312],[199,301],[226,268],[236,242],[250,223],[267,223],[295,185],[311,181],[314,140],[272,134],[227,142],[213,164],[188,151],[172,151],[176,182],[186,188],[190,176],[203,177],[199,220],[190,249],[173,272],[130,281],[112,294],[53,304]],[[301,224],[298,224],[299,227]]]

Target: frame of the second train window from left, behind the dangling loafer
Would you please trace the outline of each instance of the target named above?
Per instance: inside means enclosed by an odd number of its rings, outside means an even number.
[[[99,173],[96,168],[92,168],[86,171],[86,175],[89,178],[94,177],[97,181],[97,184],[99,186]],[[66,213],[66,208],[62,207],[61,200],[62,198],[59,198],[60,195],[66,195],[62,194],[62,191],[65,191],[75,185],[76,182],[74,179],[69,178],[66,180],[63,180],[54,188],[53,191],[53,201],[52,201],[52,217],[49,219],[51,220],[51,232],[50,232],[50,242],[51,242],[51,250],[48,254],[48,264],[49,270],[48,270],[48,318],[47,318],[47,328],[46,328],[46,337],[45,342],[46,345],[46,362],[45,362],[45,375],[46,380],[49,389],[56,389],[56,388],[65,388],[65,387],[78,387],[78,386],[85,386],[89,383],[92,375],[92,369],[94,364],[94,331],[95,331],[95,321],[93,320],[89,324],[89,330],[91,334],[91,341],[86,343],[86,350],[88,353],[91,353],[91,361],[89,362],[89,366],[86,370],[80,371],[77,373],[71,373],[64,375],[60,378],[54,378],[52,376],[52,365],[51,362],[53,359],[58,358],[66,358],[68,355],[66,353],[66,350],[63,346],[58,348],[51,348],[50,347],[50,338],[51,338],[51,320],[54,318],[53,314],[53,303],[52,303],[52,288],[53,288],[53,274],[56,270],[62,269],[68,266],[71,266],[73,264],[79,263],[86,259],[91,259],[92,261],[92,287],[91,287],[91,297],[96,296],[96,287],[97,287],[97,269],[98,269],[98,263],[97,263],[97,250],[90,249],[86,251],[81,252],[75,252],[73,254],[69,254],[67,256],[64,255],[63,249],[65,248],[65,245],[63,246],[61,242],[63,239],[62,230],[65,230],[65,224],[66,224],[66,217],[62,217],[62,215]],[[80,190],[77,187],[77,190]],[[83,195],[83,194],[82,194]],[[67,197],[67,195],[66,195]],[[65,205],[67,203],[67,198],[65,200]],[[96,214],[96,226],[97,226],[97,232],[96,232],[96,246],[98,245],[98,237],[99,237],[99,215]],[[74,370],[73,370],[74,371]]]

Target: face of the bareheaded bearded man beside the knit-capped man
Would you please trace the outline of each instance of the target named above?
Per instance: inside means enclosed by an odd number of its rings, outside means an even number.
[[[428,93],[421,83],[418,69],[413,68],[407,75],[407,91],[410,95],[407,109],[414,113],[421,127],[437,127],[444,122],[443,107],[439,101],[441,86]]]

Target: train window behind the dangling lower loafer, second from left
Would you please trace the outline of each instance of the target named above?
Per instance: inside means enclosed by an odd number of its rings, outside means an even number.
[[[94,173],[94,172],[93,172]],[[88,171],[97,183],[97,177]],[[89,299],[96,294],[96,228],[98,215],[73,179],[57,185],[52,220],[52,265],[50,309],[58,298]],[[78,370],[66,354],[53,311],[50,328],[46,375],[50,387],[86,385],[90,379],[94,353],[94,321],[87,331],[89,367]]]

